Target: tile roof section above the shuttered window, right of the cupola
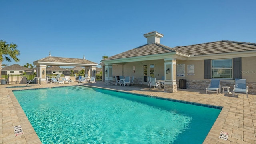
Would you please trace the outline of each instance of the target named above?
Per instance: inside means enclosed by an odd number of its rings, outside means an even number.
[[[172,49],[187,55],[204,55],[256,50],[256,44],[222,40],[190,46],[177,46]]]

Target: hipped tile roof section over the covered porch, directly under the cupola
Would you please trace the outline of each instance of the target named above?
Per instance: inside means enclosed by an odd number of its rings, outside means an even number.
[[[137,48],[134,48],[132,50],[128,50],[126,52],[122,52],[120,54],[110,56],[108,58],[103,59],[104,60],[114,60],[119,58],[130,58],[135,56],[147,56],[152,54],[163,54],[168,52],[175,52],[175,50],[172,50],[172,48],[168,46],[164,46],[162,44],[145,44],[143,46],[139,46]]]

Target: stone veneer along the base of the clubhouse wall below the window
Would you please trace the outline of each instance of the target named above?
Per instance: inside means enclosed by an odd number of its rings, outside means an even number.
[[[210,83],[210,80],[187,80],[187,88],[205,90]],[[232,92],[232,90],[234,89],[235,82],[220,82],[220,85],[230,86],[230,92]],[[246,85],[248,86],[249,94],[256,94],[256,82],[247,82]],[[179,87],[179,81],[177,81],[177,87]]]

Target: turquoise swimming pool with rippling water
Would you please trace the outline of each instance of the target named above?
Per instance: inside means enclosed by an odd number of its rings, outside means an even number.
[[[14,95],[44,144],[202,143],[221,110],[83,86]]]

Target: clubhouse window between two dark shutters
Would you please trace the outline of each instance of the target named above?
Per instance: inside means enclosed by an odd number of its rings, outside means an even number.
[[[212,78],[232,78],[232,59],[212,60]]]

